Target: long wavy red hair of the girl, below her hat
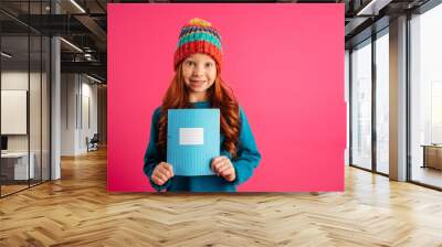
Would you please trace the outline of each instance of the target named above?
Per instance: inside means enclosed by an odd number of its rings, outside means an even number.
[[[167,147],[167,110],[192,107],[191,103],[189,103],[188,88],[181,75],[181,66],[182,63],[177,66],[177,72],[162,99],[160,118],[158,122],[158,141],[156,143],[157,149],[160,151],[162,158],[166,157]],[[220,109],[220,127],[221,132],[224,135],[222,147],[230,153],[232,158],[235,158],[235,144],[239,141],[240,135],[239,105],[233,96],[232,89],[228,87],[221,79],[219,72],[220,67],[217,64],[217,78],[207,93],[212,107]]]

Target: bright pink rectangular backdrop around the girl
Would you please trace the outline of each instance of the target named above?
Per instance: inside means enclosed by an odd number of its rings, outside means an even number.
[[[239,191],[343,191],[344,4],[291,3],[108,4],[108,190],[154,191],[143,173],[151,114],[196,17],[221,33],[222,77],[262,153]]]

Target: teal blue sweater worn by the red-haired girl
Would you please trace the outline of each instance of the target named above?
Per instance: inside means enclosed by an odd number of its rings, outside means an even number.
[[[194,108],[211,108],[209,101],[194,103]],[[232,160],[230,153],[222,147],[224,136],[221,133],[220,138],[220,155],[228,157],[235,170],[236,178],[232,182],[228,182],[222,176],[217,175],[201,175],[201,176],[179,176],[175,175],[161,186],[154,183],[151,174],[154,169],[161,161],[166,160],[160,158],[160,154],[155,144],[158,138],[158,121],[160,117],[160,107],[158,107],[152,116],[150,125],[150,141],[145,154],[144,172],[149,179],[151,186],[157,191],[191,191],[191,192],[235,192],[236,186],[244,183],[250,176],[252,176],[254,169],[257,167],[261,160],[261,154],[257,151],[255,140],[252,135],[252,130],[249,126],[244,110],[240,107],[240,137],[239,146],[236,146],[236,158]],[[173,167],[173,164],[171,164]]]

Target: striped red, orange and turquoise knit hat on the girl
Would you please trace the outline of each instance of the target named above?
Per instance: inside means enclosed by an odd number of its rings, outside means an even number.
[[[175,52],[175,71],[177,71],[179,63],[194,53],[210,55],[218,63],[219,67],[221,67],[221,36],[209,22],[199,18],[190,20],[181,29],[178,47]]]

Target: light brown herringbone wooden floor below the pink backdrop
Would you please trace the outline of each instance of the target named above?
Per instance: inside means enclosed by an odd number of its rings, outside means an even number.
[[[0,200],[0,246],[442,246],[442,193],[347,168],[345,193],[108,193],[106,153]]]

